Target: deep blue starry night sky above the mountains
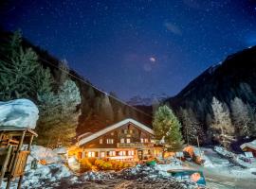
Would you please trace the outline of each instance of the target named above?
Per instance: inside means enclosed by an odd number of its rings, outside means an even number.
[[[177,94],[210,65],[255,45],[254,2],[12,0],[0,21],[128,99]]]

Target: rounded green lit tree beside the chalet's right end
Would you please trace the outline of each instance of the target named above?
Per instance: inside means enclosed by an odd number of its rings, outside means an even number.
[[[153,129],[155,139],[163,146],[163,157],[165,149],[177,150],[182,144],[181,125],[175,117],[174,112],[166,105],[161,106],[155,112]]]

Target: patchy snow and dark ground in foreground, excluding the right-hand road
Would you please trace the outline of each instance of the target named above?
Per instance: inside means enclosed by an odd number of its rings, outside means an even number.
[[[176,180],[167,173],[171,168],[182,168],[178,160],[155,166],[137,165],[120,172],[91,171],[78,176],[64,164],[58,151],[43,146],[31,147],[22,188],[196,188],[194,183]],[[38,163],[36,169],[31,169],[34,159],[44,159],[47,164]],[[17,181],[13,181],[10,188],[16,188]],[[6,182],[2,187],[5,185]]]

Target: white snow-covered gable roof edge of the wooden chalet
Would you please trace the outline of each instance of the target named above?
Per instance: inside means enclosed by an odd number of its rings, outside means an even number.
[[[90,141],[100,137],[101,135],[103,135],[103,134],[105,134],[105,133],[107,133],[107,132],[109,132],[109,131],[111,131],[113,129],[118,129],[119,127],[121,127],[121,126],[123,126],[125,124],[128,124],[128,123],[133,123],[138,128],[144,129],[145,131],[147,131],[147,132],[149,132],[151,134],[154,134],[154,130],[153,129],[150,129],[149,127],[147,127],[147,126],[137,122],[134,119],[128,118],[128,119],[124,119],[124,120],[120,121],[117,124],[109,126],[109,127],[105,128],[105,129],[101,129],[98,132],[95,132],[95,133],[93,133],[93,134],[91,134],[91,135],[89,135],[87,137],[82,138],[82,140],[80,140],[76,145],[77,146],[82,146],[82,145],[84,145],[84,144],[86,144],[86,143],[88,143],[88,142],[90,142]]]

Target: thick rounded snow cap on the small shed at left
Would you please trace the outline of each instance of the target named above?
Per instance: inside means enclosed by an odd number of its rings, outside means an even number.
[[[0,127],[35,129],[38,108],[28,99],[0,102]]]

